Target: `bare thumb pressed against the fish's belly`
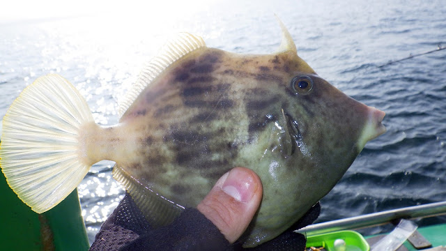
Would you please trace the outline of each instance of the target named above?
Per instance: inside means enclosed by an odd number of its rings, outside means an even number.
[[[244,167],[224,174],[197,206],[230,243],[247,229],[262,198],[259,176]]]

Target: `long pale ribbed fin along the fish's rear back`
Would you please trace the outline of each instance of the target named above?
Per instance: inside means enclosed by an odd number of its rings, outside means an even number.
[[[178,38],[165,44],[157,56],[153,57],[153,59],[151,59],[151,61],[141,70],[137,82],[135,82],[128,90],[128,93],[119,105],[119,117],[121,118],[121,116],[123,116],[128,107],[130,107],[134,100],[137,99],[139,93],[150,85],[151,82],[153,82],[153,80],[167,67],[181,57],[201,47],[206,47],[203,38],[194,36],[190,33],[180,33],[178,34]]]

